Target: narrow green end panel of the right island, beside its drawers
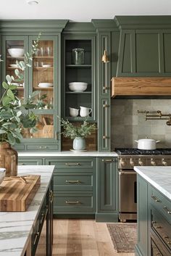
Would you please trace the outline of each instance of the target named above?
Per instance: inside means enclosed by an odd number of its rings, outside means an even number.
[[[148,256],[148,183],[139,175],[137,176],[137,212],[138,239],[135,252],[137,255]]]

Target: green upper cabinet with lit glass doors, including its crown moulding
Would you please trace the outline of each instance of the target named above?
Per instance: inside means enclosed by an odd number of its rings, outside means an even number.
[[[38,110],[32,110],[38,116],[36,127],[38,131],[30,133],[29,129],[23,130],[22,143],[16,145],[16,149],[60,150],[60,124],[57,116],[61,115],[61,33],[67,20],[21,22],[0,22],[0,26],[3,27],[1,27],[4,59],[2,79],[5,80],[7,74],[14,75],[16,61],[24,59],[23,55],[11,54],[11,49],[22,48],[25,53],[31,52],[33,42],[41,31],[38,49],[33,54],[32,67],[25,69],[24,79],[16,83],[16,95],[20,99],[28,98],[30,94],[38,91],[36,102],[40,107]],[[17,33],[14,33],[14,30]],[[46,95],[46,98],[41,100],[43,95]]]

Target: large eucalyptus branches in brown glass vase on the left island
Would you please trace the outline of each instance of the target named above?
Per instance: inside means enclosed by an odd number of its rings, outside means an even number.
[[[30,61],[33,60],[40,36],[41,34],[33,42],[33,48],[30,53],[25,54],[24,60],[16,62],[15,77],[7,75],[6,81],[1,85],[3,94],[0,99],[0,167],[6,168],[6,176],[17,176],[17,151],[11,146],[20,143],[23,129],[30,128],[31,133],[37,131],[38,117],[31,110],[40,107],[40,99],[36,102],[39,92],[33,92],[28,99],[19,99],[16,95],[17,86],[13,83],[23,80],[22,72],[31,67]]]

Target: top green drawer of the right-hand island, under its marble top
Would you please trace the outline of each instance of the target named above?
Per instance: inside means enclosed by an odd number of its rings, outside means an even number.
[[[167,197],[164,197],[157,189],[153,186],[149,186],[149,200],[159,212],[171,223],[171,202]]]

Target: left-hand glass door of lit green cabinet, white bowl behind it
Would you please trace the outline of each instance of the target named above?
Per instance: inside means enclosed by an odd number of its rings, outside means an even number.
[[[3,80],[6,75],[14,77],[13,84],[17,86],[15,94],[18,98],[22,99],[28,94],[28,70],[23,72],[20,70],[20,74],[23,76],[21,80],[18,80],[14,73],[17,69],[17,62],[23,61],[24,54],[28,51],[28,37],[27,36],[4,36],[2,52],[3,63]]]

